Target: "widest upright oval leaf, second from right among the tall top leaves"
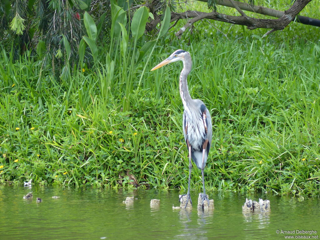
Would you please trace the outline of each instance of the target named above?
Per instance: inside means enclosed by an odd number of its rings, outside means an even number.
[[[132,36],[138,40],[146,29],[149,12],[146,6],[140,7],[133,15],[131,22]]]

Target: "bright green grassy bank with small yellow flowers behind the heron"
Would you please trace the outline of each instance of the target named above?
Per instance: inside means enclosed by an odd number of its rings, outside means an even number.
[[[233,26],[226,38],[210,24],[198,24],[181,40],[173,34],[162,39],[147,68],[176,49],[191,53],[189,91],[205,102],[213,122],[208,190],[319,195],[319,29],[294,23],[261,39],[265,29]],[[101,69],[108,61],[100,57]],[[75,71],[72,79],[55,79],[49,69],[39,83],[42,62],[30,53],[13,61],[2,51],[0,62],[2,183],[32,178],[40,184],[131,186],[128,170],[145,187],[185,191],[181,63],[146,71],[140,87],[144,63],[136,66],[130,72],[132,105],[124,112],[126,82],[117,63],[102,97],[104,78],[95,67]],[[192,188],[201,188],[196,168]]]

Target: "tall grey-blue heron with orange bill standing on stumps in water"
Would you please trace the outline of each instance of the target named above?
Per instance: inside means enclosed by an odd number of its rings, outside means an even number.
[[[209,110],[205,107],[203,101],[198,99],[192,99],[188,91],[187,76],[191,71],[192,60],[189,52],[184,50],[177,50],[173,52],[166,60],[159,63],[156,67],[152,68],[151,71],[161,68],[162,66],[175,62],[183,62],[183,69],[180,74],[180,96],[182,99],[184,111],[183,111],[183,134],[186,140],[188,151],[189,151],[189,181],[188,181],[188,192],[187,192],[187,207],[188,201],[192,204],[190,198],[190,179],[192,162],[196,163],[197,167],[201,169],[202,183],[203,183],[203,194],[202,194],[202,206],[204,200],[208,201],[208,196],[205,194],[204,186],[204,166],[207,162],[209,149],[212,140],[212,123]],[[185,196],[185,195],[184,195]],[[181,199],[181,198],[180,198]]]

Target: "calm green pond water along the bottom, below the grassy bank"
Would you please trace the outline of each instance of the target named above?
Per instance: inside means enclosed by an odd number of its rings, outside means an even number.
[[[23,196],[33,192],[33,199]],[[0,185],[0,239],[285,239],[320,235],[320,201],[291,196],[213,193],[213,211],[173,210],[177,190],[111,190]],[[191,197],[196,205],[197,193]],[[60,196],[52,199],[52,196]],[[133,205],[122,203],[134,196]],[[43,202],[36,203],[36,197]],[[270,213],[244,214],[245,198],[269,199]],[[150,200],[160,199],[159,208]],[[283,234],[281,230],[316,234]],[[276,230],[280,233],[277,234]],[[297,237],[296,237],[297,239]]]

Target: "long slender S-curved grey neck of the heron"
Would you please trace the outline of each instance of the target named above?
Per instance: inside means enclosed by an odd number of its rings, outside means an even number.
[[[191,102],[192,98],[188,90],[187,76],[191,71],[192,60],[190,56],[186,56],[183,60],[183,69],[180,74],[180,96],[185,109],[188,109],[188,104]]]

